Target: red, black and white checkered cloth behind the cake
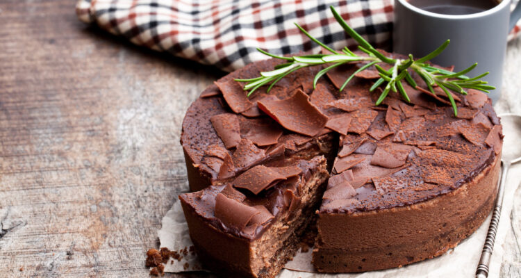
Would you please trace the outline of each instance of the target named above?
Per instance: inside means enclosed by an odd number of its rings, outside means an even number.
[[[79,0],[76,13],[134,44],[232,71],[265,59],[257,47],[320,51],[293,22],[333,49],[353,45],[330,5],[373,45],[390,47],[392,0]]]

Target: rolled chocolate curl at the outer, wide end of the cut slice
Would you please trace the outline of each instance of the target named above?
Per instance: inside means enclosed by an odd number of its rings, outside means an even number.
[[[261,211],[230,199],[223,194],[217,194],[215,199],[215,217],[227,227],[245,229],[248,222]]]

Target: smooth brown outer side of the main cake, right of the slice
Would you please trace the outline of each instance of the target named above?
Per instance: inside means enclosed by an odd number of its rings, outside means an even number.
[[[315,268],[365,272],[444,254],[470,236],[492,211],[499,157],[474,180],[427,202],[381,211],[320,214]]]

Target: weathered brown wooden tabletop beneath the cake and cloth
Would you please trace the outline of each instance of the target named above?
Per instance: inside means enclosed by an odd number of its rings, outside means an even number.
[[[223,73],[85,26],[74,0],[1,0],[0,26],[0,277],[147,277],[187,182],[183,114]],[[498,111],[521,113],[519,65],[518,39]],[[516,196],[504,277],[521,276]]]

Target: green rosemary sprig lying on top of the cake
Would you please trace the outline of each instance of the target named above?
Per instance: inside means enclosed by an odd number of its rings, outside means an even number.
[[[351,74],[340,87],[340,91],[343,90],[347,83],[353,79],[355,74],[366,70],[368,67],[374,66],[379,72],[380,79],[377,79],[377,81],[370,88],[370,91],[372,92],[381,85],[385,85],[380,97],[376,102],[376,105],[381,104],[383,99],[387,97],[391,90],[393,92],[399,92],[399,94],[402,95],[406,101],[410,101],[406,91],[404,90],[404,85],[402,82],[407,82],[413,88],[417,87],[416,82],[411,76],[411,71],[415,72],[422,78],[424,83],[427,85],[427,88],[429,88],[429,91],[431,91],[433,94],[436,94],[433,89],[435,86],[440,87],[441,90],[445,92],[449,98],[450,103],[452,104],[455,116],[458,115],[456,101],[454,101],[454,97],[452,97],[452,93],[449,91],[467,95],[465,89],[475,89],[481,90],[483,92],[489,92],[489,90],[495,89],[493,86],[486,85],[488,82],[480,80],[483,78],[483,76],[486,76],[488,72],[473,78],[465,76],[465,74],[474,70],[474,67],[477,66],[477,63],[471,65],[465,70],[462,70],[461,72],[451,72],[448,70],[439,69],[437,67],[432,67],[427,63],[427,61],[443,52],[443,50],[445,50],[445,48],[449,45],[450,40],[447,40],[430,54],[427,54],[426,56],[419,59],[413,58],[411,54],[408,55],[407,59],[394,59],[386,57],[385,55],[381,54],[380,51],[372,47],[372,45],[367,42],[367,40],[365,40],[360,34],[356,33],[356,31],[354,31],[354,29],[351,28],[351,26],[349,26],[344,21],[344,19],[342,19],[340,14],[335,10],[335,8],[333,8],[333,6],[330,6],[330,8],[338,24],[344,28],[347,34],[349,34],[352,38],[354,38],[354,40],[356,40],[356,42],[358,42],[358,49],[367,54],[367,56],[358,56],[347,47],[344,47],[342,51],[331,49],[331,47],[328,47],[326,44],[320,42],[320,40],[317,40],[312,35],[310,35],[306,30],[304,30],[304,28],[299,26],[299,24],[295,23],[297,28],[299,28],[299,30],[304,33],[304,35],[308,36],[308,38],[313,40],[313,42],[319,44],[321,47],[324,47],[324,49],[327,49],[332,54],[313,54],[284,57],[270,54],[266,51],[263,51],[262,49],[258,49],[258,51],[261,51],[261,53],[272,58],[286,60],[286,63],[276,66],[275,69],[270,72],[261,72],[261,76],[253,79],[235,79],[235,81],[246,83],[244,85],[244,90],[248,91],[248,96],[250,96],[258,88],[268,84],[270,84],[270,86],[267,88],[267,92],[270,92],[273,85],[279,80],[283,79],[284,76],[295,72],[296,70],[300,70],[303,67],[328,65],[316,74],[315,79],[313,80],[313,88],[315,88],[318,79],[329,72],[329,70],[345,63],[359,62],[367,62],[367,64],[363,65],[358,70],[356,70],[356,72]],[[392,65],[392,67],[389,70],[384,70],[379,64],[388,64]]]

